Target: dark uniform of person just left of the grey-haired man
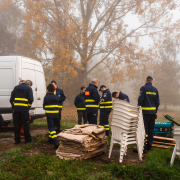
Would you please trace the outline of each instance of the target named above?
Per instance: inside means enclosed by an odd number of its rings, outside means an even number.
[[[87,123],[87,113],[85,107],[85,99],[84,94],[78,94],[74,100],[74,105],[77,107],[78,113],[78,124],[81,125],[82,118],[84,120],[84,124]]]

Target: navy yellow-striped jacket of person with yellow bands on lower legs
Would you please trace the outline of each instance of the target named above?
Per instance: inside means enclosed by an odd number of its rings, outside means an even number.
[[[53,93],[47,93],[43,101],[43,109],[46,110],[47,118],[58,118],[59,108],[58,108],[58,97]]]

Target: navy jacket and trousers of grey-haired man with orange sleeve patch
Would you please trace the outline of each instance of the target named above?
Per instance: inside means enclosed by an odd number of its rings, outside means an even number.
[[[89,124],[97,124],[100,95],[97,86],[89,84],[85,91],[85,104]]]

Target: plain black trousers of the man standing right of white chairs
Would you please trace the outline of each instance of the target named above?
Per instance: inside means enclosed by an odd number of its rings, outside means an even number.
[[[148,135],[147,144],[145,144],[144,147],[145,150],[150,150],[152,147],[155,118],[156,114],[143,114],[144,128],[146,131],[146,135]]]

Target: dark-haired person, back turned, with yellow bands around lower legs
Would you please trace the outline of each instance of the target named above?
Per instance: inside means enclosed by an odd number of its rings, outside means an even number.
[[[59,99],[54,94],[54,86],[47,86],[48,93],[44,97],[43,108],[46,110],[47,124],[49,129],[49,143],[53,143],[55,148],[58,148],[59,142],[55,131],[55,122],[59,118]]]

